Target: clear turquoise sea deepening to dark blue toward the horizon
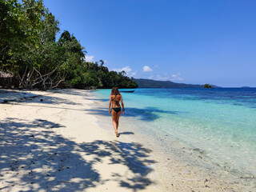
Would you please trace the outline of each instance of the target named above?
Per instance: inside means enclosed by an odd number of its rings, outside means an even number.
[[[110,90],[94,93],[108,102]],[[221,166],[256,174],[256,89],[136,89],[122,97],[125,117],[143,134],[170,135]]]

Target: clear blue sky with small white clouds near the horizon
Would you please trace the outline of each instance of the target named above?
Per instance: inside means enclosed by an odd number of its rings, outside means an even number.
[[[45,0],[88,61],[134,78],[256,87],[256,1]],[[59,34],[58,34],[59,36]]]

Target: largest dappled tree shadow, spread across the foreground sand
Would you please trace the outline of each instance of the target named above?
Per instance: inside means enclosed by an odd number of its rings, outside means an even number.
[[[113,180],[124,190],[138,191],[152,184],[146,177],[152,171],[147,165],[154,164],[147,159],[149,150],[118,141],[76,143],[56,134],[59,128],[65,129],[44,119],[0,122],[0,190],[81,191]],[[109,165],[126,166],[136,177],[113,170],[112,177],[102,178],[94,166],[103,158],[110,159]]]

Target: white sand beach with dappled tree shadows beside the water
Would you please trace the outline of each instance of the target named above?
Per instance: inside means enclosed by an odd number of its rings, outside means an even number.
[[[99,101],[89,90],[0,90],[0,102],[0,191],[251,190],[158,158],[125,126],[115,138],[111,118],[103,127],[92,113]]]

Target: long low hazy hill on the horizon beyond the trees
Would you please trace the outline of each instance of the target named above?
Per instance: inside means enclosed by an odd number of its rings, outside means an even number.
[[[170,81],[155,81],[144,78],[134,78],[140,88],[203,88],[202,85],[176,83]]]

